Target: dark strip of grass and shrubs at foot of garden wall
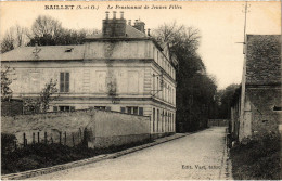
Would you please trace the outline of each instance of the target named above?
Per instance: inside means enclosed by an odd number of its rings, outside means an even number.
[[[106,148],[88,148],[85,146],[69,147],[62,144],[31,144],[14,152],[3,154],[1,160],[2,174],[26,171],[31,169],[51,167],[75,160],[90,158],[101,154],[111,154],[129,147],[138,146],[150,142],[129,143],[120,146],[110,146]],[[3,147],[2,147],[3,148]]]

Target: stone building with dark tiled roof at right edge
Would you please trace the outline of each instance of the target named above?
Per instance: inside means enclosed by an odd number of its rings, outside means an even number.
[[[281,36],[247,35],[242,85],[231,108],[233,138],[278,132],[281,125]]]

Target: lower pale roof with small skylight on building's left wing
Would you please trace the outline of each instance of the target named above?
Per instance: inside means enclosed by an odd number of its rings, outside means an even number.
[[[85,46],[21,47],[0,54],[0,57],[1,61],[82,60],[84,50]]]

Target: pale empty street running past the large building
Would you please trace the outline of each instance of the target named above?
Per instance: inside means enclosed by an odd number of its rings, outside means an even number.
[[[30,180],[219,180],[231,179],[226,127],[213,127],[115,159]]]

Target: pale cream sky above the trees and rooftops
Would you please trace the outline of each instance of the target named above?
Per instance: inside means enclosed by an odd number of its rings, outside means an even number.
[[[74,7],[72,10],[51,10],[46,9],[46,5]],[[79,9],[79,5],[85,9]],[[125,5],[142,7],[120,9]],[[174,9],[169,9],[170,5]],[[242,79],[244,10],[243,1],[0,2],[0,36],[16,24],[30,28],[38,15],[55,17],[62,22],[63,27],[73,29],[101,29],[105,11],[110,11],[110,17],[112,11],[117,11],[117,17],[119,12],[124,11],[126,20],[140,18],[145,23],[145,28],[150,29],[176,21],[179,25],[192,26],[200,30],[202,38],[198,54],[206,66],[207,74],[216,77],[219,89],[225,89],[231,83],[240,83]],[[246,34],[281,34],[281,2],[248,2]]]

